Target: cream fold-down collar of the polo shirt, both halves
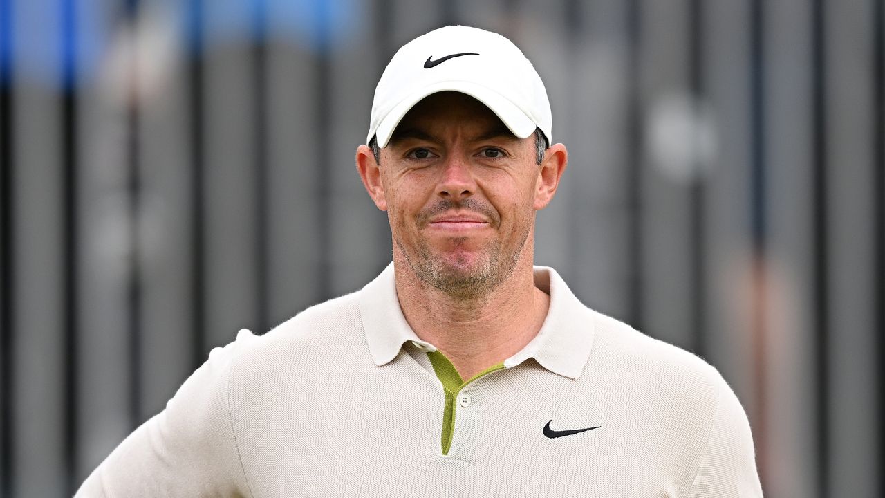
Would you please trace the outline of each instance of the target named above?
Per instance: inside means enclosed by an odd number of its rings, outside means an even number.
[[[581,304],[556,270],[535,267],[535,285],[550,294],[550,309],[541,330],[519,353],[504,360],[511,368],[534,358],[543,368],[558,375],[578,378],[593,344],[594,314]],[[359,293],[359,309],[366,341],[376,365],[393,361],[406,341],[425,351],[436,348],[421,340],[409,323],[396,297],[394,265],[366,284]]]

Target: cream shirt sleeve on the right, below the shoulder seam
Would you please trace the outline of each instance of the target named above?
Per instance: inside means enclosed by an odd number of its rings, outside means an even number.
[[[720,380],[719,403],[690,498],[761,498],[750,422],[734,391]]]

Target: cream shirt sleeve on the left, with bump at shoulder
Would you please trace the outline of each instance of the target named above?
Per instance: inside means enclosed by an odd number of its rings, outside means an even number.
[[[213,349],[165,409],[123,440],[75,496],[250,496],[228,399],[232,363],[249,338],[241,331]]]

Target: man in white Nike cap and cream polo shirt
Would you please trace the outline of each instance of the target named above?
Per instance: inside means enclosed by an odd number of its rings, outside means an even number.
[[[533,267],[566,169],[531,63],[443,27],[375,90],[357,168],[393,262],[212,352],[82,496],[761,496],[719,373]]]

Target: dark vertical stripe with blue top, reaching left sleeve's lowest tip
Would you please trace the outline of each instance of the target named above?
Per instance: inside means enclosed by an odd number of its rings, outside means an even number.
[[[74,0],[62,0],[61,51],[63,60],[64,94],[62,97],[62,161],[64,199],[65,268],[64,338],[65,343],[65,467],[68,494],[75,491],[77,455],[77,29]]]

